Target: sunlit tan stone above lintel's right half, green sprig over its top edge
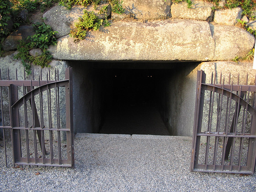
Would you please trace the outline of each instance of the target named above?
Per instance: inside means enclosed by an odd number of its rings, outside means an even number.
[[[192,8],[187,7],[187,2],[173,3],[171,5],[171,16],[173,18],[196,19],[203,21],[212,21],[213,4],[204,1],[193,1]]]

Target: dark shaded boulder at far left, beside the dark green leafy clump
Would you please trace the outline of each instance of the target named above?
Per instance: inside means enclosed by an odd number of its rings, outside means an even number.
[[[12,32],[2,43],[4,51],[16,50],[20,40],[27,40],[28,36],[34,35],[33,26],[21,26],[17,31]]]

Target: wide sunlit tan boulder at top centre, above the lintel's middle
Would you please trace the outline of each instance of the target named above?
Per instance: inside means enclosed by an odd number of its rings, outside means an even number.
[[[125,0],[123,15],[112,12],[113,19],[123,19],[126,15],[134,19],[165,19],[170,17],[171,0]]]

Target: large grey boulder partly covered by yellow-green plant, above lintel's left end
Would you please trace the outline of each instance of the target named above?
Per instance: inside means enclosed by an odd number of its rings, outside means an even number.
[[[88,5],[86,8],[81,5],[75,5],[71,10],[66,9],[64,6],[56,5],[43,14],[43,18],[45,18],[44,22],[51,26],[53,31],[59,32],[56,34],[56,37],[59,38],[69,34],[70,26],[78,21],[78,18],[84,14],[83,10],[94,11],[99,18],[104,19],[105,15],[99,14],[101,7],[104,5],[107,4],[98,5],[96,10],[94,10],[93,5]],[[107,16],[108,15],[110,15],[110,6],[108,6],[107,9]]]

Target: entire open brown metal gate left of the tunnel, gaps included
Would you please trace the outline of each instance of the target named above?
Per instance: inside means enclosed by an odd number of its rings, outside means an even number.
[[[33,70],[31,80],[26,80],[25,69],[24,80],[18,80],[17,69],[15,80],[10,80],[9,69],[7,80],[2,80],[0,71],[6,166],[9,136],[14,165],[74,167],[72,69],[66,69],[65,80],[59,80],[55,69],[53,79],[50,69],[46,80],[42,69],[38,80]]]

